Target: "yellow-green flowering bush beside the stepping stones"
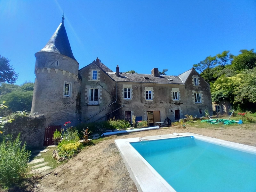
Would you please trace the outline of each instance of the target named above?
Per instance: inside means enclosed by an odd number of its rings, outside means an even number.
[[[59,156],[68,158],[75,156],[82,147],[82,144],[78,140],[77,130],[68,128],[67,131],[63,133],[63,140],[58,145]]]

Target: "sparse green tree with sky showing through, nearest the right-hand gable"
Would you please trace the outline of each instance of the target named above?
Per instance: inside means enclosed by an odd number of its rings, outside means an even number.
[[[193,67],[201,72],[200,75],[204,78],[205,81],[207,81],[208,83],[212,83],[216,80],[216,78],[214,78],[215,71],[213,70],[216,64],[216,56],[212,57],[211,55],[209,55],[205,58],[205,60],[194,64]]]

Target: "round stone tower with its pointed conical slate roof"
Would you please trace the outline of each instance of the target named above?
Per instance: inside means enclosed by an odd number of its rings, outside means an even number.
[[[68,41],[64,17],[49,42],[35,56],[36,80],[31,113],[44,114],[46,125],[76,123],[77,98],[80,101],[79,63]]]

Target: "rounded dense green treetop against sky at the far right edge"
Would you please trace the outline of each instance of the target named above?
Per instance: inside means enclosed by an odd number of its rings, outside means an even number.
[[[256,53],[254,49],[250,51],[242,49],[240,52],[241,54],[234,56],[234,60],[232,61],[232,67],[235,70],[244,71],[256,67]]]

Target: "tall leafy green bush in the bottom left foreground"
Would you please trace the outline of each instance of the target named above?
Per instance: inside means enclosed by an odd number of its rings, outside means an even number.
[[[20,134],[14,141],[12,136],[7,137],[0,145],[0,186],[3,187],[11,187],[26,177],[30,156],[26,144],[21,146]]]

